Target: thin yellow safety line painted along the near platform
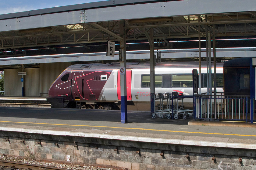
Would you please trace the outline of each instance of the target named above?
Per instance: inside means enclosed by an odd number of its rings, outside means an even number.
[[[170,131],[170,130],[162,130],[162,129],[145,129],[145,128],[134,128],[134,127],[91,126],[91,125],[55,124],[55,123],[34,123],[34,122],[12,122],[12,121],[0,121],[0,122],[6,122],[6,123],[27,123],[27,124],[48,124],[48,125],[61,125],[61,126],[108,127],[108,128],[115,128],[115,129],[136,129],[136,130],[145,130],[145,131],[162,131],[162,132],[195,133],[195,134],[220,134],[220,135],[233,135],[233,136],[250,136],[250,137],[256,137],[256,135],[250,135],[250,134],[225,134],[225,133],[190,132],[190,131]]]

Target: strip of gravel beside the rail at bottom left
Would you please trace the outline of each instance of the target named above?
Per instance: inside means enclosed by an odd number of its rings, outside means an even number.
[[[73,169],[73,170],[115,170],[113,168],[101,168],[101,167],[94,167],[94,166],[86,166],[86,165],[69,165],[69,164],[62,164],[57,162],[44,162],[44,161],[32,161],[23,157],[11,157],[7,155],[0,155],[0,159],[4,161],[13,161],[13,162],[22,162],[27,164],[34,164],[34,165],[44,165],[44,166],[52,166],[57,168],[66,168],[66,169]],[[118,168],[117,168],[118,169]]]

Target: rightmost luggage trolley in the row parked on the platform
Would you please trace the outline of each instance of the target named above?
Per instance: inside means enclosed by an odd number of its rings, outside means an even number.
[[[185,97],[183,95],[179,96],[178,92],[172,92],[172,105],[175,106],[172,107],[172,115],[174,119],[179,119],[180,117],[187,119],[189,114],[193,114],[193,109],[184,109],[183,98]],[[182,102],[181,106],[179,106],[179,100]]]

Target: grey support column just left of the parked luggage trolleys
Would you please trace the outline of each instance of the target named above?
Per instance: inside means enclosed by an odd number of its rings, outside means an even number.
[[[150,29],[149,32],[149,51],[150,51],[150,113],[153,114],[155,109],[154,97],[155,97],[155,53],[154,53],[154,37],[153,29]]]

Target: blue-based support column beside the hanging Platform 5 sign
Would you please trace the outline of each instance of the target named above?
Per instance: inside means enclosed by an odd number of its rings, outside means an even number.
[[[126,91],[126,39],[125,39],[125,22],[120,21],[120,36],[123,40],[120,41],[121,58],[120,69],[124,69],[124,74],[120,74],[120,88],[121,88],[121,123],[128,123],[127,120],[127,91]]]

